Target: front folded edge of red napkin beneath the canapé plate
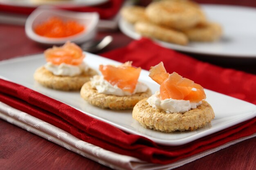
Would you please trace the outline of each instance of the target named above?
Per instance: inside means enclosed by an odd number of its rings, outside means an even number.
[[[173,163],[256,133],[254,117],[189,144],[160,146],[145,137],[123,132],[55,99],[4,79],[0,79],[0,101],[87,143],[149,163]]]

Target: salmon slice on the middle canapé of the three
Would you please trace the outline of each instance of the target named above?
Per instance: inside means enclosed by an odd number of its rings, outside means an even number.
[[[126,62],[120,66],[100,65],[104,79],[112,86],[117,86],[123,91],[133,93],[136,88],[141,68],[132,66],[132,62]]]

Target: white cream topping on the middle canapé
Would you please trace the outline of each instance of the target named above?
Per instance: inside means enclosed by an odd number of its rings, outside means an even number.
[[[103,93],[106,95],[116,95],[116,96],[127,96],[135,93],[142,93],[147,91],[148,86],[144,83],[138,82],[133,93],[128,91],[123,91],[117,85],[112,86],[108,81],[106,81],[103,76],[96,75],[91,78],[92,87],[96,88],[98,93]]]

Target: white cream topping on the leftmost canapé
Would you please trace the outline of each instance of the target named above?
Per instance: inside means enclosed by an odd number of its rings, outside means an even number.
[[[75,76],[83,73],[83,71],[88,70],[88,66],[82,62],[78,66],[73,66],[70,64],[61,63],[60,65],[54,65],[52,62],[47,62],[45,68],[52,72],[54,75],[64,75],[64,76]]]

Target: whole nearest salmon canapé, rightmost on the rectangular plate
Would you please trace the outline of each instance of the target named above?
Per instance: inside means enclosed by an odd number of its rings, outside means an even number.
[[[167,73],[162,62],[149,72],[160,88],[133,108],[132,117],[143,127],[163,132],[195,130],[214,118],[201,85],[178,73]]]

